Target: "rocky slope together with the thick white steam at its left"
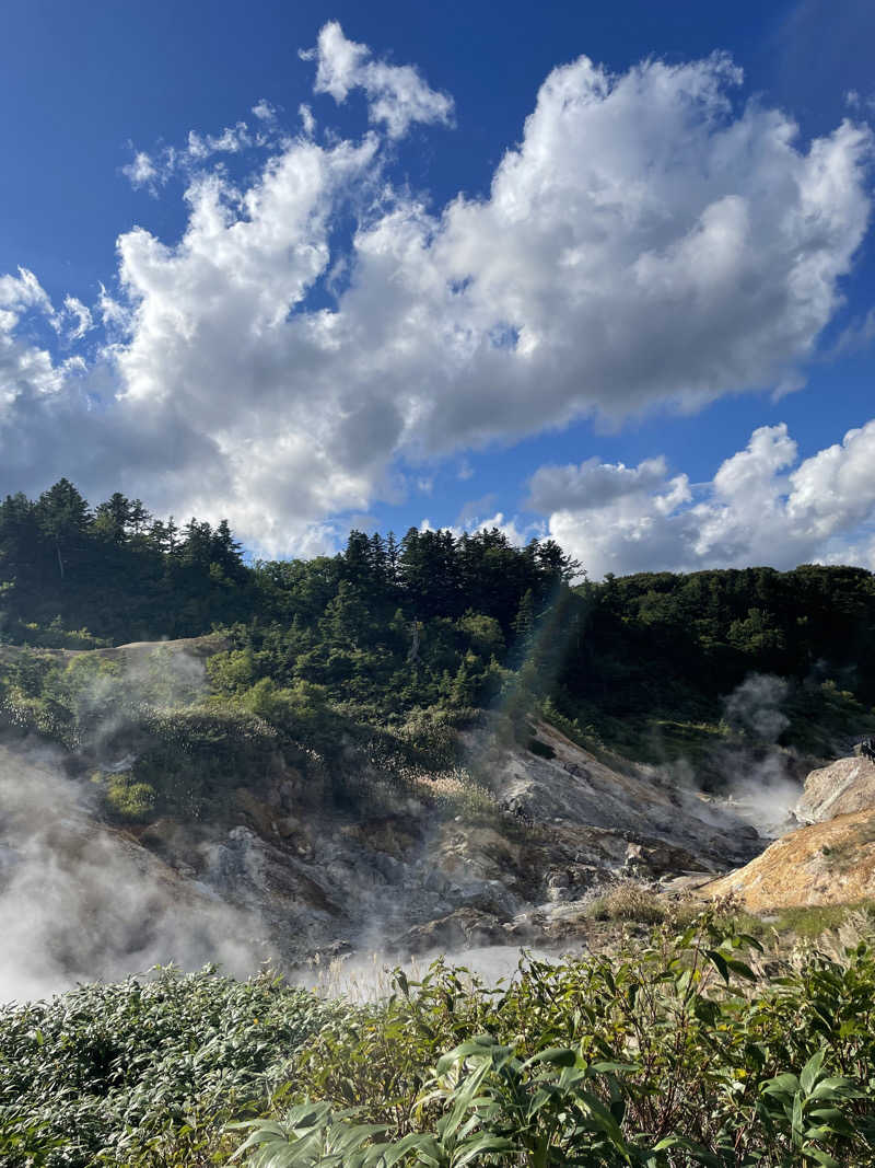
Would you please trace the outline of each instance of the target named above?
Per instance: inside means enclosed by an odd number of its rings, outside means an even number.
[[[112,651],[123,658],[139,647]],[[447,816],[420,776],[373,812],[328,813],[281,759],[232,792],[222,822],[103,822],[88,778],[33,743],[0,746],[0,996],[155,961],[270,959],[358,950],[402,958],[575,936],[618,874],[719,872],[765,841],[732,811],[654,771],[609,766],[552,726],[541,753],[464,736],[485,809]],[[546,749],[545,749],[546,748]],[[542,757],[552,753],[553,757]]]

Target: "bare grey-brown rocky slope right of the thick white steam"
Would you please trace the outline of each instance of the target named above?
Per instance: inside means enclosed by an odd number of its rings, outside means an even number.
[[[721,871],[763,846],[733,813],[654,774],[612,770],[546,725],[538,737],[554,758],[487,731],[468,737],[494,815],[435,815],[428,779],[390,813],[326,815],[286,773],[258,797],[237,791],[239,822],[224,839],[155,823],[140,842],[258,912],[292,961],[349,947],[545,943],[573,931],[575,906],[617,874]]]

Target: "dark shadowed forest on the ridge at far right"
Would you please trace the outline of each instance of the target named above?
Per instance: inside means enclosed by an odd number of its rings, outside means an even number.
[[[792,680],[802,723],[832,681],[875,702],[875,577],[862,568],[804,564],[643,572],[584,585],[592,613],[562,684],[607,715],[713,710],[750,673]]]

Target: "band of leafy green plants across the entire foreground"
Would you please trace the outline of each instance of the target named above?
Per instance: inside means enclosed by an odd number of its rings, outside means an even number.
[[[497,988],[438,964],[370,1006],[164,973],[9,1007],[0,1159],[198,1168],[245,1136],[253,1168],[870,1164],[873,951],[766,961],[736,927]]]

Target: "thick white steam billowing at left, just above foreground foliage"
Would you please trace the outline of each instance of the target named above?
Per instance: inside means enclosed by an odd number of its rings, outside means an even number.
[[[56,752],[0,745],[0,1001],[159,964],[245,975],[270,957],[257,916],[184,888],[94,804]]]

